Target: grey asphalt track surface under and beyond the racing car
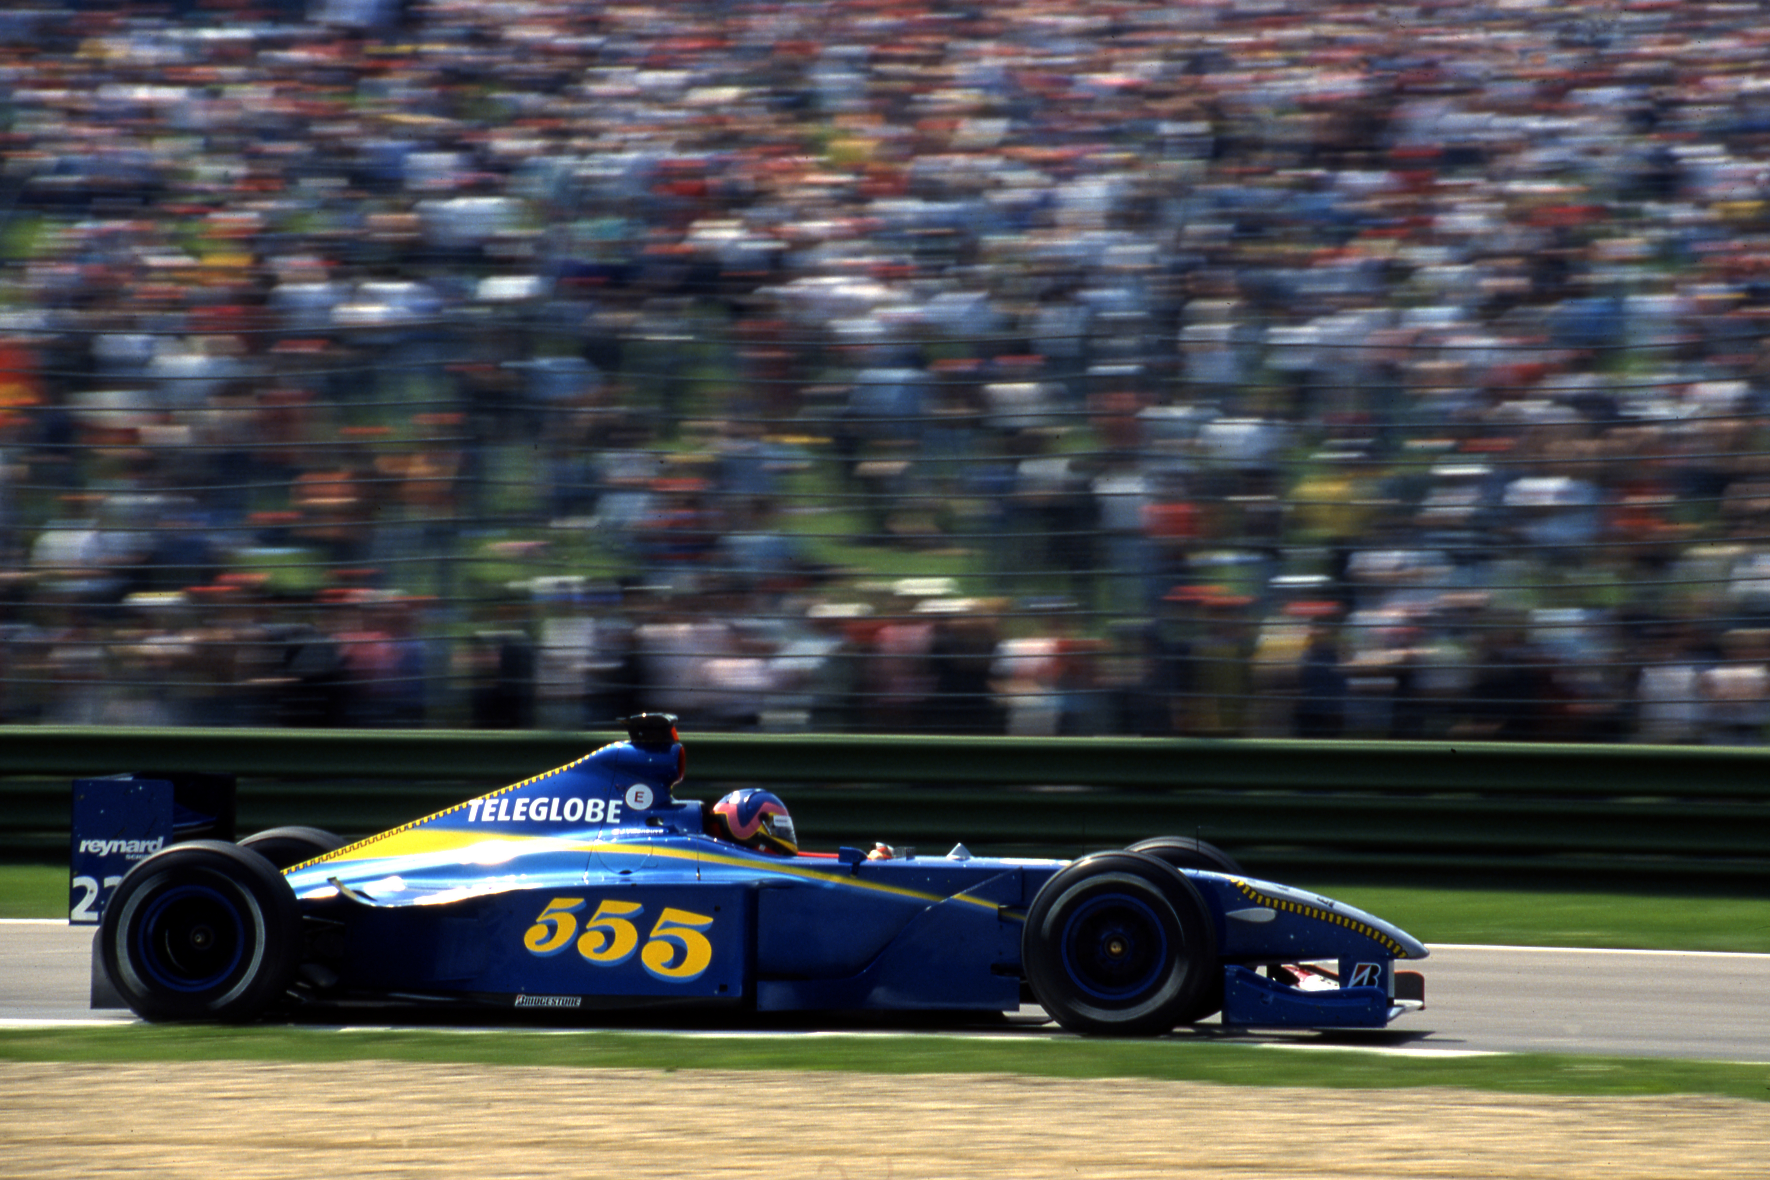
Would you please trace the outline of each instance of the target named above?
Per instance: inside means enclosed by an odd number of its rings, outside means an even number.
[[[90,950],[92,927],[0,920],[0,1028],[133,1021],[129,1012],[88,1007]],[[1175,1037],[1402,1054],[1591,1053],[1770,1061],[1770,1003],[1765,1003],[1770,955],[1437,945],[1420,969],[1427,977],[1427,1008],[1404,1014],[1382,1031],[1227,1033],[1202,1024]],[[1037,1008],[1027,1008],[989,1035],[1064,1035],[1041,1017]],[[398,1014],[377,1012],[373,1023],[402,1021]],[[618,1021],[618,1026],[635,1024]],[[666,1017],[650,1017],[648,1026],[671,1030]]]

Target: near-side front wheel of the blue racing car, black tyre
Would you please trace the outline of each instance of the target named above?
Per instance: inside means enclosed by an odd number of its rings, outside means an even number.
[[[1020,954],[1034,998],[1076,1033],[1159,1035],[1221,991],[1204,899],[1149,853],[1060,869],[1027,911]]]

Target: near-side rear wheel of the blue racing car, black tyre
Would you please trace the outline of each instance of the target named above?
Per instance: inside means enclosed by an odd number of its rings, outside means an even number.
[[[189,840],[124,876],[104,906],[99,957],[149,1021],[250,1021],[301,959],[301,909],[258,853]]]

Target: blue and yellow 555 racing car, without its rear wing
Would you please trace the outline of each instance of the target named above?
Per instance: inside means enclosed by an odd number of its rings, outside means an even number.
[[[786,807],[678,801],[674,718],[349,846],[313,828],[142,856],[101,982],[152,1021],[393,1001],[595,1012],[1016,1012],[1156,1035],[1382,1028],[1427,948],[1198,840],[1064,860],[798,851]],[[76,833],[78,839],[78,833]],[[289,865],[280,869],[278,865]]]

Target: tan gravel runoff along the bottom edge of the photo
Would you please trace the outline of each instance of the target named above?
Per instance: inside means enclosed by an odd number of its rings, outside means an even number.
[[[0,1063],[0,1176],[1763,1175],[1770,1102],[1021,1076]]]

